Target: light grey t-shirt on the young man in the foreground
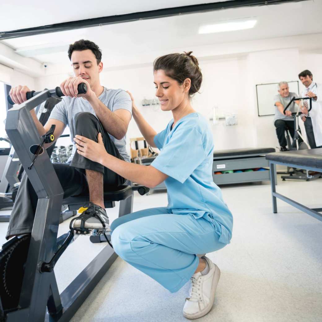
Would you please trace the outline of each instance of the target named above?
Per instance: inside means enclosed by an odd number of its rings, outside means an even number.
[[[123,109],[128,110],[132,114],[132,101],[130,95],[122,89],[114,90],[104,87],[103,93],[99,95],[99,100],[112,112]],[[49,119],[61,121],[70,127],[73,116],[79,112],[90,112],[96,116],[94,109],[87,100],[81,97],[64,97],[62,102],[59,102],[53,108]],[[72,157],[76,152],[75,142],[73,140],[75,133],[73,133],[71,128],[70,131],[71,142],[73,143],[73,152],[67,162],[72,160]],[[121,140],[117,140],[111,134],[109,134],[109,137],[114,142],[124,160],[129,162],[130,157],[125,149],[126,136],[124,136]]]

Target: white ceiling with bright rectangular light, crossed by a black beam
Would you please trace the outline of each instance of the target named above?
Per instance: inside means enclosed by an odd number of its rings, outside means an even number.
[[[160,4],[162,7],[170,7],[204,2],[192,0],[177,0],[174,2],[166,0]],[[76,3],[76,1],[71,1],[68,6],[73,3]],[[67,17],[70,17],[69,20],[95,17],[95,13],[96,16],[98,15],[98,8],[102,9],[102,11],[99,11],[100,15],[109,15],[106,11],[103,11],[103,9],[108,8],[108,2],[104,4],[104,8],[102,5],[100,7],[95,5],[98,3],[97,0],[93,0],[90,3],[96,11],[91,6],[92,10],[86,12],[90,8],[84,7],[81,13],[77,12],[76,14],[76,11],[79,11],[79,5],[78,7],[74,6],[74,8],[77,8],[75,13],[72,10],[69,12],[64,8],[62,15],[59,15],[59,22],[66,21],[66,19],[68,21]],[[132,7],[126,7],[125,3],[125,0],[119,0],[118,5],[115,5],[115,3],[113,6],[111,5],[109,12],[117,14],[124,13],[124,10],[126,12],[138,12],[160,8],[160,5],[145,0],[139,1],[139,4],[136,2],[135,5],[132,3]],[[50,10],[52,9],[51,6]],[[52,23],[52,12],[48,13],[48,9],[46,9],[47,22],[42,20],[43,10],[45,9],[41,8],[40,11],[34,13],[32,22],[29,19],[21,18],[19,25],[15,25],[14,28],[11,25],[11,28],[8,29]],[[188,51],[191,47],[195,48],[197,46],[322,33],[321,13],[321,0],[304,1],[111,24],[8,39],[2,41],[2,43],[14,48],[17,54],[31,57],[39,62],[52,65],[69,65],[70,62],[67,57],[68,45],[78,39],[89,39],[97,43],[102,49],[102,61],[105,62],[105,66],[107,62],[109,62],[109,66],[113,66],[113,61],[117,60],[117,57],[124,57],[126,60],[126,57],[144,55],[149,52],[163,54],[178,48],[184,48]],[[198,34],[200,25],[249,17],[257,19],[257,24],[252,29],[217,34]],[[11,17],[9,20],[11,20]],[[25,24],[22,23],[23,21]],[[296,46],[297,44],[294,44],[294,47]]]

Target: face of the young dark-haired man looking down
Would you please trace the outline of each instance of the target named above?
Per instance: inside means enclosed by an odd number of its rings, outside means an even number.
[[[73,51],[71,63],[76,77],[85,79],[91,88],[99,84],[99,73],[103,69],[103,63],[97,64],[96,57],[90,49]]]

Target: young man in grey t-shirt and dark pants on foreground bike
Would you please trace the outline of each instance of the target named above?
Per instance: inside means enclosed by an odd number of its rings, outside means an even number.
[[[79,40],[71,44],[68,56],[75,77],[64,80],[60,85],[66,97],[54,107],[45,126],[38,121],[34,110],[31,111],[39,135],[45,134],[52,124],[56,125],[55,139],[60,137],[66,126],[69,126],[73,144],[76,134],[91,137],[97,141],[98,133],[101,133],[104,146],[109,153],[118,159],[130,161],[125,149],[125,135],[132,113],[132,101],[129,94],[121,89],[113,90],[101,85],[99,73],[103,70],[102,54],[93,42]],[[86,94],[78,94],[77,86],[80,83],[87,85]],[[21,104],[27,100],[26,92],[29,91],[27,86],[17,86],[11,89],[10,97],[15,103]],[[50,144],[45,144],[45,148],[49,146]],[[82,193],[90,195],[88,208],[85,208],[85,211],[74,220],[73,228],[77,229],[83,223],[84,228],[87,229],[109,231],[103,189],[113,190],[124,184],[126,180],[101,164],[75,153],[75,147],[73,151],[74,154],[67,163],[53,164],[64,190],[64,198]],[[2,261],[5,260],[1,254],[14,243],[21,243],[22,237],[26,244],[24,249],[28,250],[37,202],[37,193],[28,177],[24,175],[10,216],[6,239],[16,237],[3,245],[0,252],[0,268],[3,267]],[[25,257],[22,256],[17,266],[23,265]],[[22,280],[21,276],[17,278]],[[6,292],[3,283],[0,285],[0,296],[3,298]]]

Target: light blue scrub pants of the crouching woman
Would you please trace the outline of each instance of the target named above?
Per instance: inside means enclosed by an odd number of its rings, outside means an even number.
[[[193,214],[176,215],[160,207],[114,220],[111,239],[119,257],[174,293],[198,267],[196,254],[226,246],[218,241],[219,229],[216,221],[195,219]]]

